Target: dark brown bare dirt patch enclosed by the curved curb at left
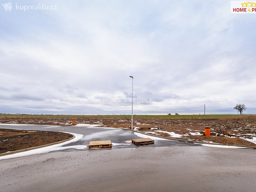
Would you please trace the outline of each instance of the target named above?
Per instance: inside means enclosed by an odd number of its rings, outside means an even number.
[[[0,153],[46,145],[71,138],[68,133],[0,129]]]

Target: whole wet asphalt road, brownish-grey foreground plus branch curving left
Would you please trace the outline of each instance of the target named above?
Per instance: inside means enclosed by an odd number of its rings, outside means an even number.
[[[139,138],[133,132],[125,130],[108,132],[108,129],[56,126],[12,128],[52,131],[64,128],[65,130],[59,131],[84,135],[84,140],[70,145],[88,145],[90,139],[102,140],[106,136],[111,136],[111,141],[116,143]],[[98,132],[98,136],[95,132]],[[2,159],[0,191],[231,192],[256,189],[255,149],[213,148],[175,141],[121,147],[62,150]]]

